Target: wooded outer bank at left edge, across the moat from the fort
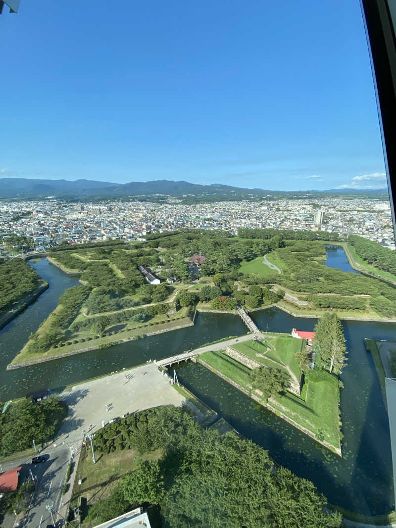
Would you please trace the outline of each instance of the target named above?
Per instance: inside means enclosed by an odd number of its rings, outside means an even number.
[[[40,275],[22,259],[0,263],[0,316],[40,284]]]

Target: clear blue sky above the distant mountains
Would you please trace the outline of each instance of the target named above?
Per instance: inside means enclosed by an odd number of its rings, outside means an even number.
[[[386,186],[358,0],[22,0],[0,45],[1,177]]]

